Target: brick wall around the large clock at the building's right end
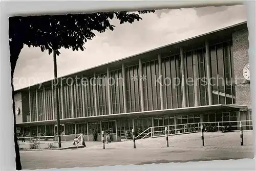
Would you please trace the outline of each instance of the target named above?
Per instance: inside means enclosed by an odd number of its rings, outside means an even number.
[[[233,33],[233,64],[234,78],[236,79],[236,104],[247,105],[251,109],[250,82],[243,77],[243,68],[249,63],[248,30]]]

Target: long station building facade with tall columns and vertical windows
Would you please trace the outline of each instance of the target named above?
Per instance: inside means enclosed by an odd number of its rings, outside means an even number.
[[[92,140],[104,130],[119,141],[133,128],[251,120],[248,48],[244,22],[58,78],[62,132]],[[56,135],[52,85],[15,91],[19,132]]]

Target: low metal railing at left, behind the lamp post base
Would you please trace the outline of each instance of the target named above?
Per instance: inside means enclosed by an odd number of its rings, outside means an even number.
[[[60,143],[62,144],[61,148],[58,147],[58,141],[56,141],[55,139],[58,139],[58,136],[32,136],[32,137],[17,137],[18,140],[18,146],[20,150],[46,150],[46,149],[65,149],[65,148],[70,148],[70,146],[78,146],[82,145],[82,134],[71,134],[71,135],[61,135],[63,137],[66,136],[78,136],[78,142],[74,143],[74,139],[73,140],[66,140],[66,138],[64,138],[63,141],[60,141]],[[52,139],[52,140],[49,140]],[[20,141],[22,141],[20,143]],[[24,143],[23,143],[24,141]],[[28,141],[28,142],[26,142]],[[68,143],[70,142],[70,143]],[[66,145],[65,145],[66,143]],[[46,146],[47,144],[47,146]],[[29,145],[29,147],[25,148],[23,145]]]

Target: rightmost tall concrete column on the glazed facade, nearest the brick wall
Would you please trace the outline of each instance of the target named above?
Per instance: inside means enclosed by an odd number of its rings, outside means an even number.
[[[208,88],[208,101],[209,105],[213,105],[212,97],[212,86],[211,86],[211,61],[210,61],[210,47],[209,42],[205,41],[205,51],[206,51],[206,75],[207,75],[207,88]]]

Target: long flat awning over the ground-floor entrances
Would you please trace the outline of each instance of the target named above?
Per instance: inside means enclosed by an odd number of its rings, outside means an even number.
[[[157,115],[174,115],[174,114],[189,114],[189,113],[207,113],[207,112],[224,112],[224,111],[240,111],[248,110],[247,106],[240,105],[207,105],[198,107],[187,107],[187,108],[176,108],[176,109],[164,109],[164,110],[154,110],[154,111],[144,111],[144,112],[131,112],[131,113],[119,113],[110,115],[98,115],[89,117],[77,117],[77,118],[67,118],[60,119],[60,124],[83,122],[83,121],[93,121],[102,119],[116,119],[116,118],[137,118],[146,116],[157,116]],[[16,124],[16,126],[36,126],[36,125],[50,125],[56,124],[56,120],[45,120],[45,121],[34,121],[28,123]]]

